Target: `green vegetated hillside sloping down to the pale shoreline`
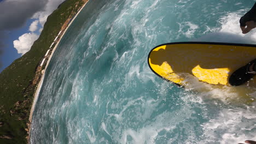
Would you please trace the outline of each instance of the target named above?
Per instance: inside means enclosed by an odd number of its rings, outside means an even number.
[[[33,94],[37,87],[34,77],[40,61],[60,32],[63,24],[73,17],[84,0],[66,0],[48,16],[40,37],[31,50],[16,59],[0,74],[0,143],[27,143]]]

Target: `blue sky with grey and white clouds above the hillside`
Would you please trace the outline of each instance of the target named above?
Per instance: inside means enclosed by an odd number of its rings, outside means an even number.
[[[0,50],[2,50],[2,54],[0,55],[0,63],[2,64],[0,73],[15,61],[15,59],[21,57],[22,54],[30,49],[30,45],[38,38],[40,28],[43,27],[46,17],[63,1],[0,0],[0,13],[4,14],[0,15],[0,21],[2,23],[0,23]],[[30,26],[35,21],[37,21],[37,25],[33,25],[34,30],[31,30]],[[14,46],[15,40],[18,43]],[[1,44],[3,44],[2,47]],[[17,49],[22,53],[18,53]]]

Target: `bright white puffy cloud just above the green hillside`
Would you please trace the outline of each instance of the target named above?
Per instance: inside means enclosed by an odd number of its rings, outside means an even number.
[[[19,40],[14,40],[13,45],[18,50],[18,53],[24,55],[31,49],[31,46],[38,37],[39,35],[35,33],[25,33],[19,37]]]

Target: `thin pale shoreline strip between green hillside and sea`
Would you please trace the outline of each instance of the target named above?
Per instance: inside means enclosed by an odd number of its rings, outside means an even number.
[[[67,29],[69,28],[69,26],[72,25],[72,23],[73,23],[73,21],[75,20],[75,18],[77,18],[77,16],[78,16],[78,15],[80,14],[80,12],[84,9],[85,5],[86,5],[88,2],[89,2],[89,0],[84,3],[84,5],[79,9],[79,11],[77,12],[77,14],[75,14],[75,16],[72,18],[72,20],[68,23],[68,26],[65,28],[64,32],[60,35],[59,40],[57,40],[57,43],[55,44],[55,46],[54,46],[54,48],[53,48],[53,51],[51,52],[51,54],[50,54],[50,56],[49,56],[49,59],[48,59],[48,61],[46,62],[45,68],[42,70],[42,76],[41,76],[40,81],[39,81],[39,83],[38,83],[36,92],[34,93],[33,103],[32,103],[31,110],[30,110],[30,117],[29,117],[30,126],[29,126],[29,128],[28,128],[28,143],[30,143],[30,140],[31,140],[30,134],[31,134],[31,127],[32,127],[32,118],[33,118],[34,107],[36,106],[36,103],[37,103],[37,100],[38,100],[38,96],[39,96],[40,90],[41,90],[42,85],[43,85],[45,70],[48,68],[48,65],[49,65],[49,63],[50,63],[50,61],[51,61],[51,58],[53,57],[54,52],[55,52],[57,46],[59,46],[59,43],[60,43],[60,41],[61,41],[63,35],[65,35],[65,33],[66,33]]]

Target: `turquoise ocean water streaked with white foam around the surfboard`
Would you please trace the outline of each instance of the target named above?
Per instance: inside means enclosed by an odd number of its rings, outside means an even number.
[[[33,114],[31,143],[238,143],[256,140],[255,103],[198,93],[148,67],[156,45],[256,44],[240,17],[254,1],[91,0],[60,41]],[[238,59],[239,61],[239,59]],[[251,96],[254,98],[253,95]],[[232,100],[233,99],[233,100]]]

